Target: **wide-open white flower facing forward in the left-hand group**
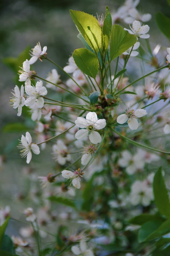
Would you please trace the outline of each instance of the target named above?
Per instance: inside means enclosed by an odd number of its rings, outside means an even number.
[[[43,82],[40,80],[39,82],[36,82],[35,87],[31,85],[25,87],[25,92],[29,95],[25,101],[25,106],[31,107],[35,102],[37,108],[42,108],[44,106],[44,99],[42,96],[47,94],[47,89],[42,85]]]

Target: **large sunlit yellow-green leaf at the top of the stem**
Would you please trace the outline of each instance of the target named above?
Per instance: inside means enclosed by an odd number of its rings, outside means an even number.
[[[84,37],[86,42],[90,45],[90,47],[93,50],[98,52],[99,48],[101,47],[101,33],[102,33],[102,29],[98,23],[98,20],[94,16],[88,13],[85,13],[83,11],[70,10],[70,15],[75,25],[77,26],[78,31]],[[88,27],[90,27],[90,30]]]

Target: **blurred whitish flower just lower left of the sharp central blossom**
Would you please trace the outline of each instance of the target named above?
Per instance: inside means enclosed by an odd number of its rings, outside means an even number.
[[[52,151],[53,159],[60,165],[71,161],[71,156],[68,154],[68,149],[62,140],[58,140],[56,144],[52,145]]]

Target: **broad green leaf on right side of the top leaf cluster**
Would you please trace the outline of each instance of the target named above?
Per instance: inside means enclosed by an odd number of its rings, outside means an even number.
[[[110,59],[114,60],[123,52],[132,47],[137,41],[135,35],[124,30],[120,25],[112,26],[111,43],[110,43]]]

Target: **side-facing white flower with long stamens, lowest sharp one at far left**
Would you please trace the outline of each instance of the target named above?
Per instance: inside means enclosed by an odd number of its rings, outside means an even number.
[[[38,145],[32,144],[32,138],[28,131],[26,132],[25,136],[22,135],[21,142],[20,142],[18,148],[22,149],[20,151],[21,157],[27,156],[27,163],[29,163],[31,161],[31,158],[32,158],[31,151],[33,151],[33,153],[36,155],[38,155],[40,153]]]

